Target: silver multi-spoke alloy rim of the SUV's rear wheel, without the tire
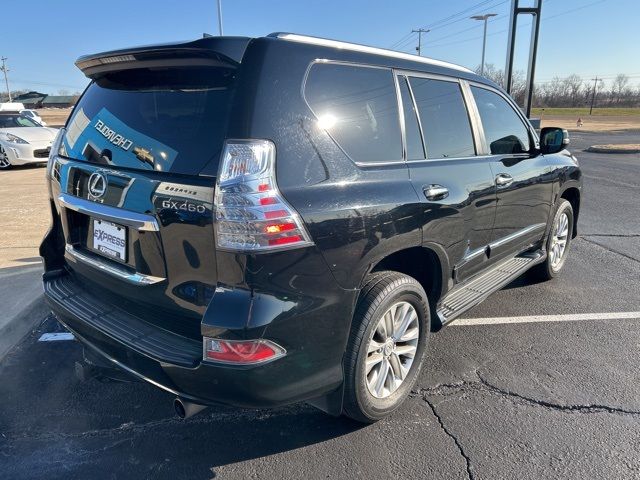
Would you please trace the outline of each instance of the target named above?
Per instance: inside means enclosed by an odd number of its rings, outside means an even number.
[[[393,304],[378,321],[367,345],[365,378],[376,398],[392,395],[406,379],[416,356],[420,323],[409,302]]]

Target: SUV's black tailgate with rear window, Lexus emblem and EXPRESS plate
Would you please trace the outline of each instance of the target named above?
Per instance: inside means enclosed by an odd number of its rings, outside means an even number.
[[[199,338],[216,285],[215,178],[202,173],[217,170],[235,69],[167,62],[94,79],[52,191],[72,274],[102,300]]]

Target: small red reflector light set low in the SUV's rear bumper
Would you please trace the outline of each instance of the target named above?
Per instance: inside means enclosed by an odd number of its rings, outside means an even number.
[[[254,365],[284,356],[286,351],[269,340],[221,340],[204,337],[204,360]]]

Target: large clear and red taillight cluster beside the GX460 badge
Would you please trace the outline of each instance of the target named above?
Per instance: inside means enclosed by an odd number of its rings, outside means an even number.
[[[215,194],[218,247],[270,251],[311,245],[300,216],[276,185],[276,149],[267,140],[225,143]]]

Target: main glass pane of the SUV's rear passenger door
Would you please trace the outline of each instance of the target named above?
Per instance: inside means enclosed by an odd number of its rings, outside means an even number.
[[[467,107],[456,82],[411,77],[427,158],[476,154]]]

